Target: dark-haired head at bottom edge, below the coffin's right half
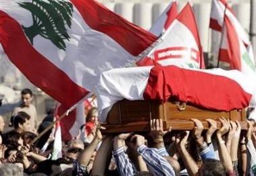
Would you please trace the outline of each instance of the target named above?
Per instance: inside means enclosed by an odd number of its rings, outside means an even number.
[[[220,161],[215,159],[205,159],[199,168],[200,176],[225,176],[226,169]]]

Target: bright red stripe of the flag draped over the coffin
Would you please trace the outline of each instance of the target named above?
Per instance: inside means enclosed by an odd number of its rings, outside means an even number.
[[[155,66],[151,69],[143,97],[161,102],[171,97],[209,109],[230,111],[247,107],[251,94],[236,81],[224,76],[176,66]]]

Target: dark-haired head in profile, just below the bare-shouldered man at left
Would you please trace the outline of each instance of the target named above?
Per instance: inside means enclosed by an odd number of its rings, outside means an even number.
[[[30,130],[30,116],[26,112],[18,112],[14,116],[14,129],[18,132],[27,132]]]

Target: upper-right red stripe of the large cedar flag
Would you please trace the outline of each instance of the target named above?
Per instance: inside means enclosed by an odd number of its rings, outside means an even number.
[[[88,26],[107,34],[134,56],[157,40],[150,32],[130,23],[96,1],[71,1]]]

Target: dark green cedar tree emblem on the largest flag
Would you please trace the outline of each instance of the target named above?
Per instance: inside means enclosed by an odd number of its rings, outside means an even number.
[[[20,2],[20,7],[32,13],[33,24],[30,27],[22,26],[31,44],[36,35],[47,38],[57,46],[66,50],[64,40],[70,40],[65,25],[71,27],[73,5],[68,1],[32,0],[31,3]]]

